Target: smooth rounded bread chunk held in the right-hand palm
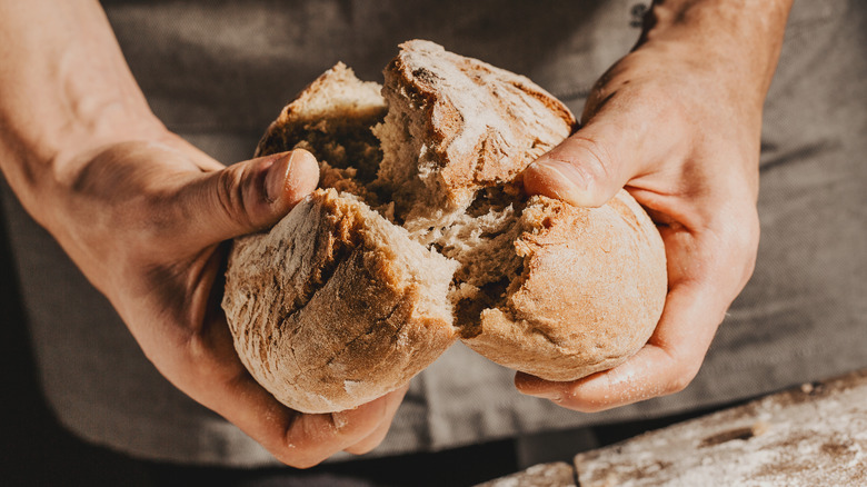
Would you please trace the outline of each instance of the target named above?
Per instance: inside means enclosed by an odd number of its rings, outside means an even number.
[[[607,370],[638,351],[667,282],[659,233],[632,197],[621,190],[600,208],[534,197],[521,220],[524,271],[462,341],[547,380]]]

